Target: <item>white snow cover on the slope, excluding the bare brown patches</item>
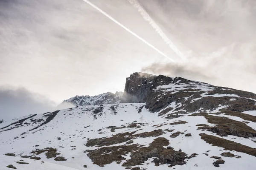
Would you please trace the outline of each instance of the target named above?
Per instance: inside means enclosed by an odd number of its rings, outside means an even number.
[[[218,169],[220,170],[255,170],[256,164],[253,162],[256,161],[255,156],[248,155],[246,153],[239,153],[235,151],[224,150],[221,147],[212,146],[208,144],[199,136],[200,133],[211,134],[217,136],[215,133],[197,130],[198,124],[207,124],[212,125],[207,122],[203,116],[188,116],[184,115],[175,119],[164,119],[163,117],[158,116],[157,113],[148,112],[145,108],[142,109],[140,113],[138,110],[145,103],[124,103],[124,104],[108,104],[103,105],[102,113],[95,113],[96,109],[99,109],[100,105],[90,105],[90,106],[79,106],[76,108],[70,108],[61,110],[57,115],[47,124],[42,125],[38,129],[31,130],[34,127],[40,125],[46,120],[47,114],[38,114],[30,119],[26,119],[22,122],[22,125],[10,125],[17,120],[27,118],[29,116],[24,116],[20,119],[12,120],[11,122],[5,122],[0,124],[0,170],[9,170],[6,166],[9,164],[17,167],[17,170],[84,170],[83,165],[87,165],[88,170],[125,170],[125,167],[122,167],[121,164],[116,164],[112,162],[111,164],[105,165],[105,167],[99,167],[96,164],[93,164],[91,159],[87,156],[87,153],[84,153],[84,150],[93,150],[98,147],[86,147],[85,144],[88,139],[102,138],[102,137],[111,137],[117,133],[124,133],[128,131],[137,131],[136,133],[150,132],[157,129],[162,129],[165,133],[161,136],[169,140],[169,146],[173,147],[174,150],[181,149],[183,152],[187,153],[190,156],[192,153],[197,153],[198,156],[195,158],[185,160],[186,164],[180,166],[176,165],[172,168],[168,167],[167,164],[160,165],[156,167],[154,163],[151,163],[153,158],[148,159],[144,164],[134,167],[147,168],[146,170],[216,170],[217,167],[214,167],[212,163],[216,159],[210,158],[211,156],[220,156],[225,163],[220,164]],[[175,103],[172,103],[170,107],[178,107]],[[220,106],[222,107],[222,106]],[[171,111],[172,112],[172,111]],[[247,114],[255,115],[255,111],[246,112]],[[241,118],[227,115],[230,119],[235,119],[238,121],[244,121]],[[31,122],[33,120],[42,119],[41,122]],[[137,121],[137,123],[144,123],[140,128],[129,128],[128,124]],[[169,123],[177,121],[186,121],[186,124],[180,125],[169,125]],[[10,125],[9,127],[6,127]],[[108,126],[122,127],[125,125],[125,128],[116,129],[115,132],[111,132]],[[154,126],[156,125],[156,126]],[[162,125],[157,127],[157,125]],[[250,122],[247,124],[254,129],[256,128],[255,123]],[[6,127],[6,128],[3,128]],[[14,128],[17,127],[17,128]],[[11,130],[6,130],[10,129]],[[99,129],[102,129],[99,134]],[[168,130],[174,130],[173,132],[168,132]],[[6,131],[3,131],[6,130]],[[31,130],[31,131],[29,131]],[[170,135],[174,132],[183,132],[176,138],[171,138]],[[191,133],[192,136],[186,137],[186,133]],[[137,137],[134,139],[134,144],[144,144],[147,147],[154,139],[157,137],[148,137],[141,138]],[[220,137],[220,136],[217,136]],[[61,138],[58,140],[58,138]],[[224,139],[228,139],[234,142],[238,142],[250,147],[255,147],[256,144],[253,142],[252,138],[245,139],[239,138],[236,136],[227,136]],[[255,139],[254,139],[255,140]],[[38,147],[35,145],[38,144]],[[124,143],[114,144],[111,146],[124,145]],[[76,147],[72,147],[76,146]],[[39,154],[41,160],[32,160],[26,158],[20,158],[19,156],[30,156],[30,152],[35,149],[44,149],[46,147],[54,147],[58,149],[58,153],[61,153],[59,156],[64,156],[67,161],[55,161],[54,158],[47,159],[44,153]],[[76,148],[75,150],[71,150]],[[206,151],[209,154],[206,155]],[[231,152],[235,155],[241,156],[241,158],[236,159],[223,157],[220,154],[223,152]],[[3,156],[5,153],[15,153],[16,157],[12,156]],[[106,153],[107,154],[107,153]],[[130,153],[127,156],[124,156],[126,159],[129,159]],[[74,158],[72,158],[74,157]],[[23,159],[29,164],[17,164],[15,161]],[[44,161],[45,163],[41,163]],[[147,164],[149,163],[149,164]]]

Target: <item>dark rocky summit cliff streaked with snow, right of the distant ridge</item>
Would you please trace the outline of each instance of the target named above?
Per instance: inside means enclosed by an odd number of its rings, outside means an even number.
[[[145,103],[149,111],[161,114],[172,111],[171,117],[195,111],[256,110],[256,94],[250,92],[143,73],[126,79],[123,102]]]

